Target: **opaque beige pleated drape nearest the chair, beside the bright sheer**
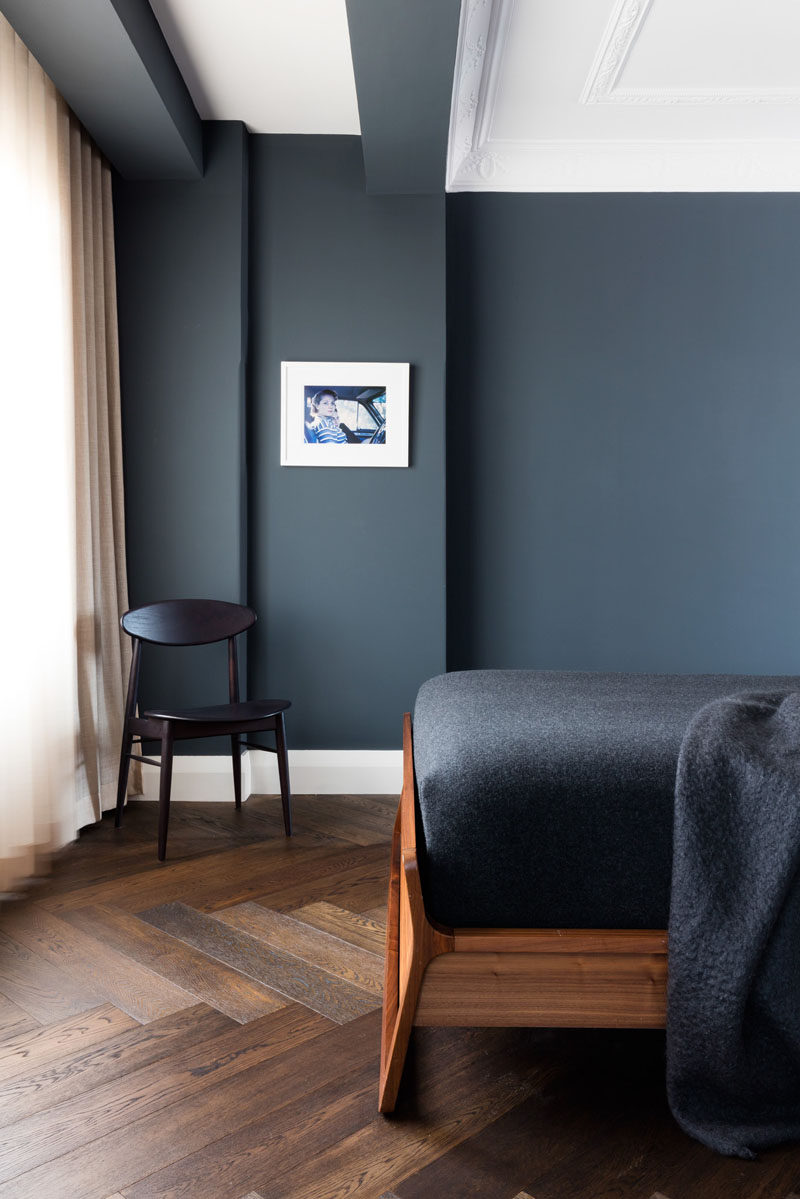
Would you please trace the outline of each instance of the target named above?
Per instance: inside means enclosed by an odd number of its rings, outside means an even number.
[[[70,115],[79,826],[116,800],[130,640],[112,176]],[[138,764],[134,764],[138,766]],[[133,776],[134,789],[140,790]]]

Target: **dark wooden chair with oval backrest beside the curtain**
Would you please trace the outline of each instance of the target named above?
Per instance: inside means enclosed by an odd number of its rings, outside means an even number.
[[[133,641],[133,659],[128,680],[125,723],[122,725],[122,751],[116,790],[116,827],[122,820],[122,808],[127,793],[131,759],[161,766],[158,789],[158,861],[167,855],[167,829],[169,825],[169,791],[173,777],[173,743],[187,737],[230,736],[230,753],[234,770],[234,796],[241,807],[241,751],[267,749],[278,758],[281,800],[283,802],[283,826],[291,836],[291,796],[289,793],[289,760],[287,757],[283,713],[291,706],[288,699],[239,699],[239,665],[236,637],[251,628],[258,617],[252,608],[225,603],[221,600],[166,600],[161,603],[132,608],[122,616],[121,625]],[[212,707],[154,707],[137,716],[139,671],[142,667],[142,643],[152,645],[207,645],[228,640],[228,704]],[[246,737],[248,733],[275,733],[275,748],[254,745]],[[161,742],[161,761],[132,753],[133,745],[143,741]]]

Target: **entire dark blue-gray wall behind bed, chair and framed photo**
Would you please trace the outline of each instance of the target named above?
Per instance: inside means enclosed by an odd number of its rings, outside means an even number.
[[[397,746],[445,664],[800,673],[800,199],[445,204],[356,138],[205,139],[115,187],[133,603],[252,603],[297,748]],[[411,363],[410,469],[278,465],[305,359]]]

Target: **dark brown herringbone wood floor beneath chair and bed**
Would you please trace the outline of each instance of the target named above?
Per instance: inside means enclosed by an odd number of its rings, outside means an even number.
[[[377,1114],[395,800],[155,806],[0,914],[0,1199],[786,1199],[673,1123],[658,1032],[422,1029]],[[793,1195],[798,1199],[798,1195]]]

